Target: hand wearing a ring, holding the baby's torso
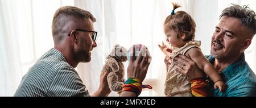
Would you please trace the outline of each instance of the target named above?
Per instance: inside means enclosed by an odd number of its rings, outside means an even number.
[[[203,72],[197,67],[196,63],[184,55],[176,56],[173,62],[178,67],[176,71],[187,76],[189,80],[204,77]]]

